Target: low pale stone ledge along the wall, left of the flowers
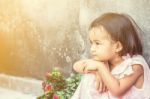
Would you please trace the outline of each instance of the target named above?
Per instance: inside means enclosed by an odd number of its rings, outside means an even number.
[[[33,78],[16,77],[0,74],[0,87],[12,89],[26,94],[40,96],[42,91],[42,81]]]

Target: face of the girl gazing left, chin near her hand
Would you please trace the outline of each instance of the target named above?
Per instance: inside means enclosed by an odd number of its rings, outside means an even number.
[[[109,61],[116,54],[116,44],[101,26],[90,30],[91,56],[94,60]]]

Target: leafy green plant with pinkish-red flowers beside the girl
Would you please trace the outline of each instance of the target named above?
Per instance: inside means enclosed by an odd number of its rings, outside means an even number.
[[[37,99],[70,99],[75,92],[80,79],[80,74],[71,74],[68,78],[58,70],[53,69],[46,73],[42,83],[44,94]]]

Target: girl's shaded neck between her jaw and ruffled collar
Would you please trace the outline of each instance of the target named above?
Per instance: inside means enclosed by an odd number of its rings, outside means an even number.
[[[113,58],[111,61],[109,61],[110,70],[112,71],[122,61],[123,61],[123,59],[121,56]]]

